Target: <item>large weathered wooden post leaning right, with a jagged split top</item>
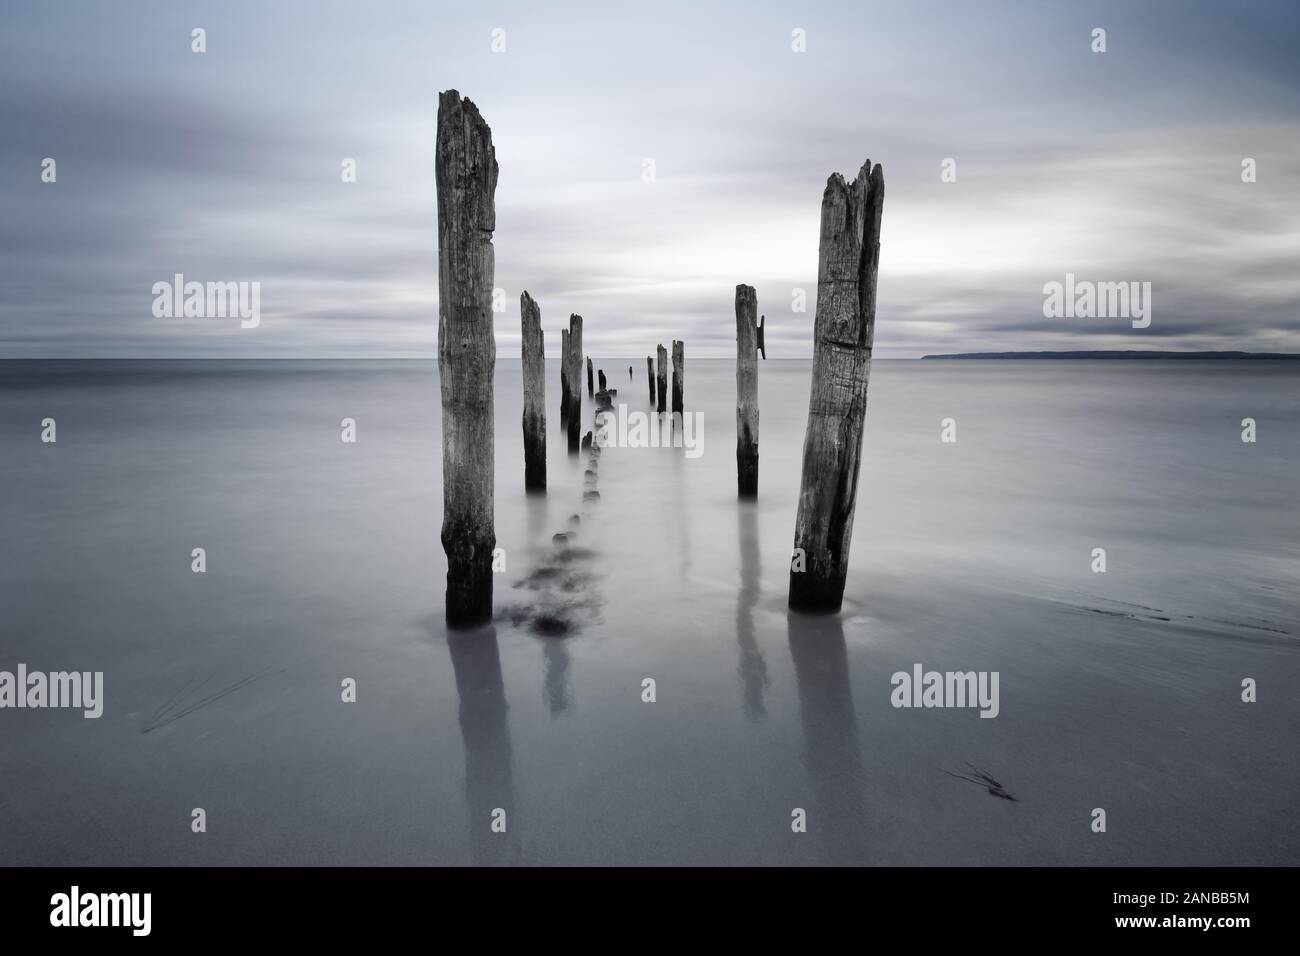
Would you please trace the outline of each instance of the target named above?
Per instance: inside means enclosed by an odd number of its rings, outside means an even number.
[[[838,173],[831,176],[822,194],[812,393],[790,563],[789,604],[797,610],[835,611],[844,601],[876,326],[884,194],[884,174],[871,160],[852,185]]]

